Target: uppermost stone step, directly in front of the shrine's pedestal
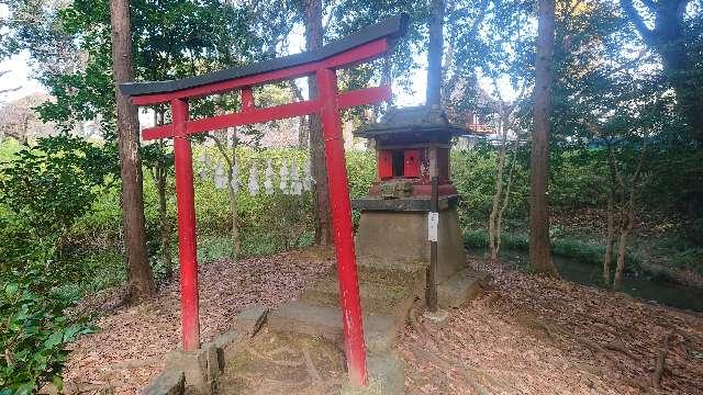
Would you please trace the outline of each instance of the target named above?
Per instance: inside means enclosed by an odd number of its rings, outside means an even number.
[[[359,283],[361,308],[365,314],[387,315],[405,320],[415,293],[408,285]],[[317,281],[300,296],[301,301],[327,307],[339,307],[339,285],[335,275]]]

